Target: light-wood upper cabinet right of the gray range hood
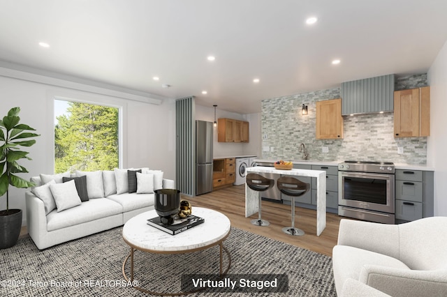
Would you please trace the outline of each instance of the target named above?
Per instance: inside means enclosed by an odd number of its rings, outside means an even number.
[[[430,86],[394,92],[394,135],[430,136]]]

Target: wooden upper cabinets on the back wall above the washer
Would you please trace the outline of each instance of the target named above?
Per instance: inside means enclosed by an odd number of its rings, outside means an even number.
[[[249,142],[249,122],[235,119],[218,119],[218,142]]]

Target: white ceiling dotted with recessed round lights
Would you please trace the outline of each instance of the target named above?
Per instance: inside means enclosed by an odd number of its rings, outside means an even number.
[[[425,73],[446,40],[446,0],[0,0],[0,61],[240,114]]]

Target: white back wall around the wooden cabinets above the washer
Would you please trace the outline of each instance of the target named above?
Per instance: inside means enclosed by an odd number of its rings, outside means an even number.
[[[238,155],[261,156],[261,114],[236,114],[216,108],[216,119],[228,118],[250,123],[249,143],[230,143],[217,141],[217,127],[214,128],[214,158],[237,157]],[[214,107],[196,105],[196,120],[214,122]]]

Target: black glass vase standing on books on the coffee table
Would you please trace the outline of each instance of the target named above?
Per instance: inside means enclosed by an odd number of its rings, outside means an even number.
[[[180,209],[180,191],[174,189],[155,190],[155,211],[163,224],[173,224]]]

